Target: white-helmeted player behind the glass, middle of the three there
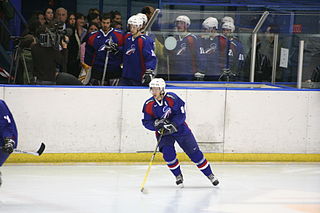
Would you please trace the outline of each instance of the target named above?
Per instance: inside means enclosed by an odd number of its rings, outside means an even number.
[[[216,57],[214,38],[218,35],[218,20],[214,17],[206,18],[202,23],[203,35],[200,39],[199,71],[195,73],[197,80],[216,81],[220,77],[220,70],[216,70],[213,58]]]

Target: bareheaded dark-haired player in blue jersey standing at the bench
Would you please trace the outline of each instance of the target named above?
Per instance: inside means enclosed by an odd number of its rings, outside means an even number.
[[[87,46],[91,47],[88,48],[88,51],[94,50],[94,53],[91,54],[92,71],[90,84],[92,85],[102,85],[104,72],[106,72],[106,78],[103,85],[110,85],[109,79],[121,77],[123,32],[112,28],[110,20],[111,16],[109,14],[103,14],[102,29],[92,34],[87,41]],[[105,63],[107,63],[106,66]]]

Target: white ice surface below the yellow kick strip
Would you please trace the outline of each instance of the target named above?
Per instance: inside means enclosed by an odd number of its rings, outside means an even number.
[[[165,165],[6,165],[0,212],[12,213],[298,213],[320,212],[320,164],[216,164],[213,187],[182,165],[185,188]]]

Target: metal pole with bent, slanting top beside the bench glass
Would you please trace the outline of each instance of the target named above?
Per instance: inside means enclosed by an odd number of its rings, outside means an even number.
[[[265,11],[260,20],[258,21],[256,27],[253,30],[252,42],[251,42],[251,64],[250,64],[250,82],[254,82],[254,69],[256,64],[256,50],[257,50],[257,32],[260,30],[262,24],[269,15],[268,11]]]

